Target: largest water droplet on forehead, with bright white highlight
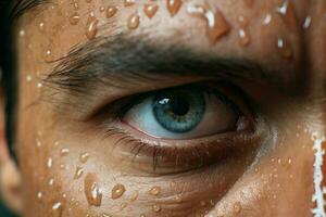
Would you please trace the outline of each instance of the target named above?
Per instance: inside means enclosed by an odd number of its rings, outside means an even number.
[[[218,10],[213,12],[203,5],[189,5],[188,13],[206,21],[206,31],[212,44],[216,43],[218,39],[227,35],[230,30],[230,25]]]

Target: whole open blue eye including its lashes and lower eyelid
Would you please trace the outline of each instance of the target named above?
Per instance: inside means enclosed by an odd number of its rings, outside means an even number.
[[[146,92],[105,110],[111,118],[102,126],[108,138],[116,139],[113,156],[150,175],[209,167],[256,143],[254,115],[246,97],[230,85],[203,82]]]

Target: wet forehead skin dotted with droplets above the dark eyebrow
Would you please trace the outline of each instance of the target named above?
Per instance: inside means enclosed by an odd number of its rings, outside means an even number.
[[[179,4],[168,7],[173,2]],[[152,17],[149,4],[156,7]],[[212,42],[210,16],[191,14],[193,5],[218,13],[229,26],[227,34],[220,36],[217,30]],[[48,54],[59,59],[92,38],[127,33],[156,43],[254,59],[279,71],[297,71],[305,59],[321,74],[326,58],[325,11],[325,1],[304,0],[53,0],[26,13],[21,27],[28,36],[25,46],[37,50],[39,59]],[[287,55],[290,61],[284,60]]]

